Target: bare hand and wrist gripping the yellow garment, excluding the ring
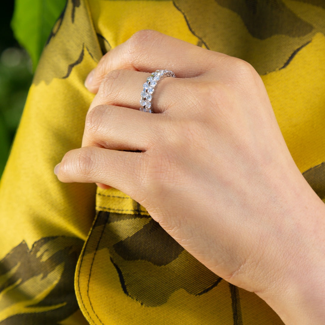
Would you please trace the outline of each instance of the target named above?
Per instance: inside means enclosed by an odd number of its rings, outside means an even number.
[[[142,84],[157,69],[177,78],[160,81],[156,114],[144,113]],[[56,166],[59,180],[123,191],[285,324],[324,324],[325,205],[294,163],[253,67],[146,30],[108,52],[85,85],[97,95],[82,148]]]

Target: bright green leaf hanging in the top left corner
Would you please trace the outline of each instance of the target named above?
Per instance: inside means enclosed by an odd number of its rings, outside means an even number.
[[[33,69],[66,0],[16,0],[11,28],[32,58]]]

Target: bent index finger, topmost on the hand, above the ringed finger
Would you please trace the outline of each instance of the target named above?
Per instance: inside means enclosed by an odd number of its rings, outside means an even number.
[[[177,78],[190,78],[207,71],[218,58],[227,55],[152,30],[133,34],[126,42],[107,52],[92,70],[85,86],[97,93],[104,76],[112,70],[153,72],[167,69]]]

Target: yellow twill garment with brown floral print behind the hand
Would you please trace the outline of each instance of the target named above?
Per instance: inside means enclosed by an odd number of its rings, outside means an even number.
[[[0,324],[282,324],[127,195],[62,184],[53,168],[81,145],[93,98],[83,85],[88,72],[105,51],[149,28],[249,61],[294,161],[325,202],[325,6],[315,4],[67,2],[1,179]]]

